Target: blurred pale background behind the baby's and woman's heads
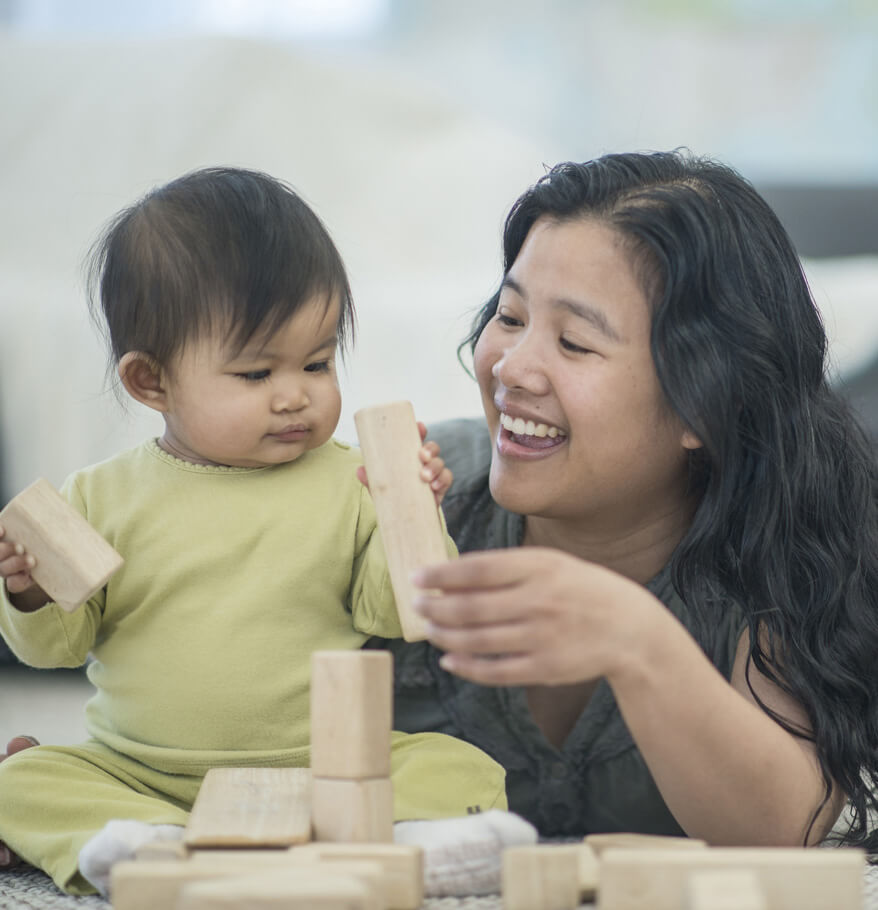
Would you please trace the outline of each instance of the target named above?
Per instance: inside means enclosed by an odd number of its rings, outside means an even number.
[[[107,391],[81,265],[194,167],[292,183],[349,267],[353,412],[480,411],[456,347],[547,165],[687,146],[778,208],[867,420],[876,0],[0,0],[0,502],[157,432]]]

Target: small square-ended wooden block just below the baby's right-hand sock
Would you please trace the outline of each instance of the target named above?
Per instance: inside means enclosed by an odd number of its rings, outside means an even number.
[[[503,851],[504,910],[576,910],[578,844],[537,844]]]

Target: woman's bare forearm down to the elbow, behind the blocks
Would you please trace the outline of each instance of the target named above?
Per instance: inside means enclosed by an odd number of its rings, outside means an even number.
[[[609,679],[622,716],[668,807],[715,845],[801,846],[822,839],[843,799],[824,795],[810,743],[733,688],[670,614],[649,647]],[[740,653],[740,652],[739,652]]]

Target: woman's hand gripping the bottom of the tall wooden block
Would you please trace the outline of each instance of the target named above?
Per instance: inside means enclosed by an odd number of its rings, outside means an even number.
[[[443,668],[484,685],[609,677],[668,618],[641,585],[558,550],[467,553],[414,581]]]

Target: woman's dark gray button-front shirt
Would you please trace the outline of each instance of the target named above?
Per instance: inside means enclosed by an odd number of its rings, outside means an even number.
[[[481,419],[452,420],[430,428],[454,473],[443,503],[448,529],[461,552],[519,546],[524,519],[491,498],[491,440]],[[647,588],[689,629],[690,610],[666,567]],[[730,677],[744,621],[739,609],[718,612],[708,656]],[[520,687],[487,687],[439,667],[441,655],[427,642],[376,640],[395,658],[394,727],[434,730],[479,746],[506,768],[509,807],[543,837],[582,837],[600,831],[680,835],[682,830],[658,792],[601,680],[561,749],[537,727]]]

